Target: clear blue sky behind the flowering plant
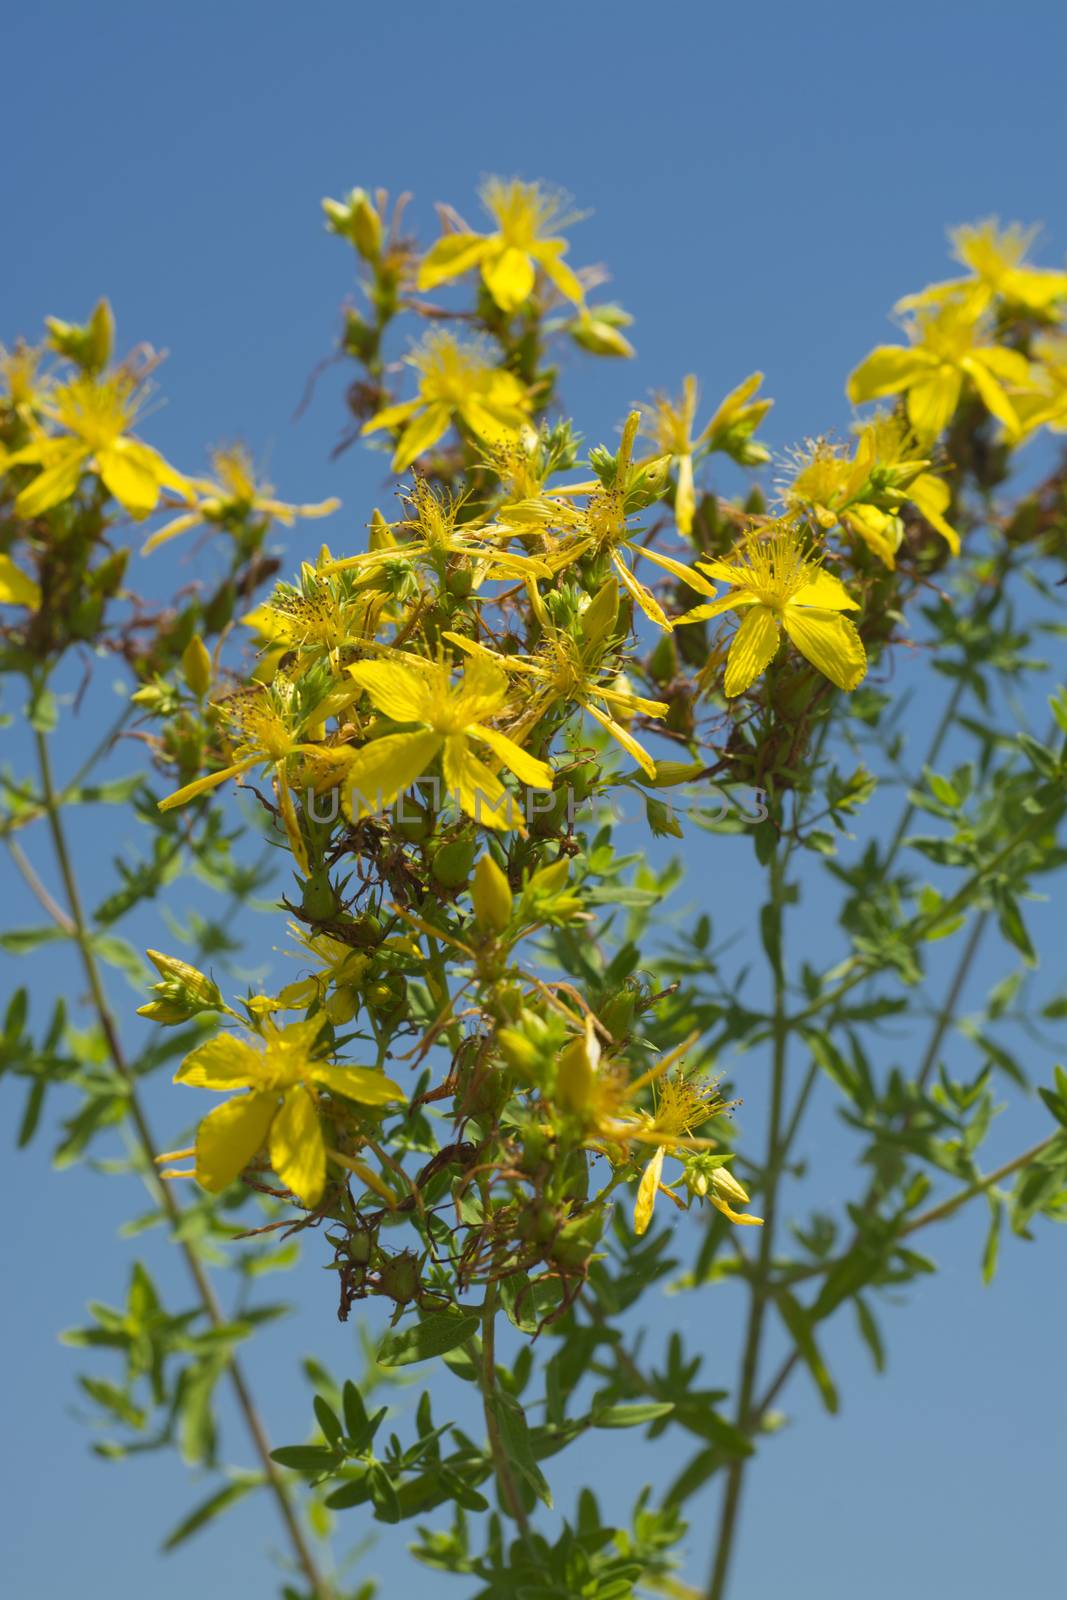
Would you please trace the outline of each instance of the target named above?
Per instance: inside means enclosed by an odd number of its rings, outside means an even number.
[[[109,294],[123,342],[171,352],[152,442],[195,470],[206,445],[243,437],[283,498],[339,494],[346,512],[331,538],[354,541],[381,470],[360,451],[328,461],[342,422],[339,370],[291,421],[352,290],[350,258],[323,232],[320,198],[354,184],[413,189],[429,235],[434,200],[474,216],[483,173],[541,176],[592,211],[571,259],[608,262],[611,294],[637,317],[635,363],[574,362],[566,373],[585,434],[609,437],[627,402],[649,386],[677,387],[686,371],[710,398],[760,366],[777,400],[769,438],[784,450],[848,422],[843,376],[886,334],[897,294],[945,275],[945,224],[989,213],[1045,221],[1046,259],[1062,259],[1064,19],[1051,0],[38,0],[6,22],[0,338],[35,334],[46,314],[83,317]],[[293,562],[309,547],[302,538],[288,542]],[[146,589],[194,576],[178,557],[142,571]],[[94,848],[120,846],[102,832],[112,814],[93,827]],[[729,885],[736,904],[744,845],[697,848],[712,894]],[[93,878],[91,853],[82,854]],[[37,920],[29,906],[18,912]],[[1051,910],[1043,928],[1051,936]],[[162,942],[150,918],[142,931]],[[266,958],[277,933],[251,936]],[[75,990],[62,960],[48,973]],[[987,968],[979,984],[995,974]],[[138,1003],[118,986],[115,1002]],[[893,1042],[886,1048],[891,1056]],[[968,1069],[961,1042],[952,1064]],[[1048,1067],[1033,1062],[1043,1077]],[[755,1120],[761,1096],[753,1066]],[[154,1112],[163,1126],[189,1107],[162,1088]],[[13,1114],[5,1094],[6,1120]],[[830,1200],[849,1173],[832,1114],[824,1106],[821,1115]],[[1005,1155],[1038,1118],[1016,1109],[1011,1126]],[[93,1461],[70,1418],[77,1363],[54,1331],[78,1322],[86,1299],[120,1296],[138,1248],[117,1237],[130,1192],[83,1171],[53,1176],[43,1146],[5,1158],[2,1174],[13,1472],[0,1518],[11,1594],[272,1592],[266,1510],[242,1507],[158,1557],[158,1536],[195,1486],[162,1459]],[[768,1443],[750,1485],[737,1595],[1062,1594],[1062,1235],[1038,1227],[1035,1243],[1006,1250],[992,1290],[979,1283],[979,1243],[981,1218],[929,1240],[944,1274],[907,1312],[889,1312],[889,1378],[870,1376],[849,1330],[827,1338],[843,1416],[824,1419],[803,1382],[792,1394],[797,1427]],[[178,1282],[166,1267],[162,1277]],[[302,1310],[254,1358],[278,1442],[299,1438],[309,1416],[298,1355],[317,1349],[339,1373],[354,1365],[354,1334],[333,1322],[322,1283],[315,1266],[278,1280]],[[728,1291],[670,1302],[664,1323],[678,1320],[704,1341],[705,1376],[733,1371]],[[662,1450],[653,1466],[673,1470]],[[633,1451],[613,1450],[593,1470],[608,1504],[627,1502],[640,1480]],[[694,1579],[710,1512],[710,1501],[696,1502]],[[362,1531],[355,1520],[350,1528]],[[386,1550],[368,1571],[390,1595],[411,1582],[432,1595],[462,1590]]]

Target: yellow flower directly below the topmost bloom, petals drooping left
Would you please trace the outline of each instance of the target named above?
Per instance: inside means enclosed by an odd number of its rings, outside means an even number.
[[[387,405],[363,424],[363,434],[402,429],[394,472],[403,472],[443,438],[453,421],[488,443],[520,434],[531,410],[530,395],[514,373],[493,365],[482,344],[462,344],[437,330],[406,360],[419,374],[418,398]]]

